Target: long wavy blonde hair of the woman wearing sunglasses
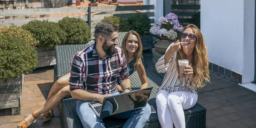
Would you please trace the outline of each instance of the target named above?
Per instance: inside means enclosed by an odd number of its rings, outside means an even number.
[[[192,53],[193,54],[192,67],[195,75],[193,82],[195,83],[196,87],[200,89],[204,87],[207,82],[210,81],[207,47],[205,45],[204,37],[201,31],[196,25],[189,24],[183,28],[182,32],[184,32],[187,28],[191,28],[193,33],[195,33],[195,36],[196,36],[195,48]],[[177,58],[176,58],[177,65],[178,65],[179,59],[186,59],[186,56],[183,50],[179,50],[177,52]],[[178,73],[180,74],[179,68],[178,68]]]

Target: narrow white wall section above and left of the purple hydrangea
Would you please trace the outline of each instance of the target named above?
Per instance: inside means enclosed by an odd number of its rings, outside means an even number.
[[[154,5],[154,23],[157,24],[157,20],[163,17],[163,0],[143,0],[143,5]],[[144,11],[147,12],[147,11]]]

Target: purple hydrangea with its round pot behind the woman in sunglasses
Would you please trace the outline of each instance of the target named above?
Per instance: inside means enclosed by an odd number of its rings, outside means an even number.
[[[180,25],[176,14],[169,13],[165,17],[160,17],[157,26],[150,28],[150,33],[160,36],[160,39],[156,39],[154,50],[164,54],[167,47],[179,39],[182,29],[183,26]]]

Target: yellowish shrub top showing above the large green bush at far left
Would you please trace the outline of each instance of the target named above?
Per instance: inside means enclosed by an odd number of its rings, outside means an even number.
[[[38,47],[39,42],[33,37],[33,34],[29,31],[23,30],[20,27],[1,27],[0,34],[6,34],[9,36],[19,36],[33,47]]]

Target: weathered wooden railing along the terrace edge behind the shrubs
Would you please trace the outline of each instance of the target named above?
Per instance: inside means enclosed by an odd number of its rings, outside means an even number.
[[[129,17],[132,14],[147,14],[148,17],[154,17],[154,12],[139,12],[138,10],[151,10],[154,5],[143,6],[105,6],[105,7],[83,7],[83,8],[37,8],[37,9],[11,9],[0,10],[0,16],[32,16],[32,15],[47,15],[47,14],[79,14],[86,13],[80,17],[90,25],[91,33],[93,34],[95,25],[100,22],[105,16]],[[90,14],[90,15],[88,15]],[[27,18],[27,19],[2,19],[0,27],[3,26],[21,26],[31,20],[48,20],[58,22],[64,17],[44,17],[44,18]],[[154,19],[150,18],[151,23]]]

